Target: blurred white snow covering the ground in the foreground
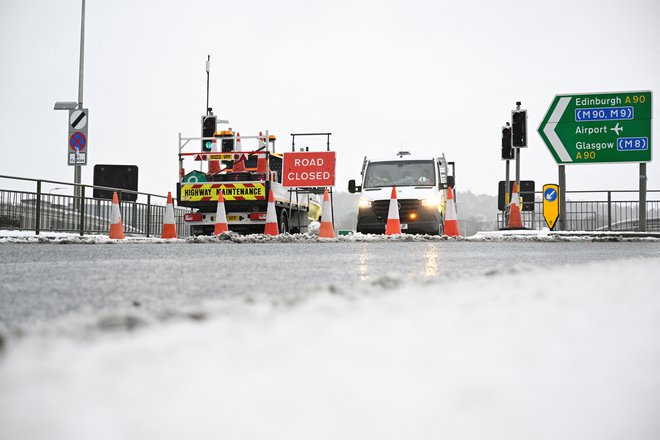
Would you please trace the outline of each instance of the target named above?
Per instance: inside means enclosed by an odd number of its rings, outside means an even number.
[[[381,279],[28,335],[0,358],[0,438],[657,439],[658,267]]]

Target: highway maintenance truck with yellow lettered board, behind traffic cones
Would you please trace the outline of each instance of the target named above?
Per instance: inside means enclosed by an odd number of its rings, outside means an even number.
[[[319,198],[282,186],[283,156],[275,152],[275,136],[268,131],[241,136],[231,128],[218,129],[219,124],[228,121],[207,114],[202,116],[201,138],[179,133],[177,199],[179,206],[195,209],[184,215],[192,235],[213,233],[220,191],[230,231],[263,233],[271,189],[280,233],[307,232],[309,222],[319,218]],[[201,151],[189,151],[199,140]],[[243,141],[256,146],[243,150]],[[186,172],[187,167],[196,169]]]

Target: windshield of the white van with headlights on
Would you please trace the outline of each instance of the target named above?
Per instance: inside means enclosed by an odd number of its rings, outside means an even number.
[[[364,176],[365,188],[383,186],[434,186],[432,160],[371,162]]]

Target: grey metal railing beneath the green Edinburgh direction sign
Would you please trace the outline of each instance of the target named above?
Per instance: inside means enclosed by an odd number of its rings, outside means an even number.
[[[541,229],[547,227],[543,218],[542,191],[521,192],[521,199],[529,203],[534,200],[534,210],[523,210],[523,227]],[[497,214],[497,225],[504,229],[507,224],[506,212]],[[560,214],[561,215],[561,214]],[[639,191],[635,190],[596,190],[566,191],[567,231],[630,231],[638,232]],[[560,229],[557,222],[555,230]],[[646,232],[660,231],[660,190],[646,192]]]

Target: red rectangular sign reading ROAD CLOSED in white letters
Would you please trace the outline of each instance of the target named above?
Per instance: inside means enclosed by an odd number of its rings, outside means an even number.
[[[335,186],[335,152],[284,153],[282,185],[299,188]]]

